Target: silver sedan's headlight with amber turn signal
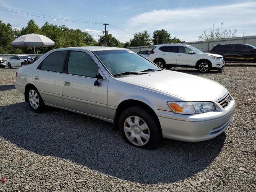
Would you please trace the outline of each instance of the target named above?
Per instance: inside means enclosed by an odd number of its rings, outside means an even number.
[[[168,106],[174,113],[178,114],[198,114],[215,110],[212,102],[167,102]]]

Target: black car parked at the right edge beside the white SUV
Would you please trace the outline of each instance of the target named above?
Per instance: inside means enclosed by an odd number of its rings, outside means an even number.
[[[222,55],[225,62],[256,62],[256,47],[249,44],[218,44],[210,53]]]

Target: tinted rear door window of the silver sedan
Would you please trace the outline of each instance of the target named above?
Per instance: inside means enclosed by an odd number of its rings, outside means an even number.
[[[42,70],[63,72],[64,61],[68,51],[56,51],[47,56],[41,65]]]

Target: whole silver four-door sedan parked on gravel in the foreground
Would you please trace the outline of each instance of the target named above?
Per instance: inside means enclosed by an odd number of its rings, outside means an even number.
[[[51,50],[18,69],[15,87],[34,112],[47,105],[113,122],[126,142],[147,149],[162,138],[214,138],[235,108],[221,84],[163,70],[123,48]]]

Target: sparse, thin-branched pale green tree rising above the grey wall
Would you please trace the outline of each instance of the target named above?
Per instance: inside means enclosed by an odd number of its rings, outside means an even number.
[[[222,39],[222,38],[234,38],[236,37],[237,30],[234,29],[231,31],[230,29],[222,30],[222,25],[224,22],[220,23],[220,28],[215,29],[214,24],[212,28],[209,28],[209,30],[204,30],[202,35],[200,35],[198,38],[200,41],[209,41],[209,40],[215,40],[215,39]]]

